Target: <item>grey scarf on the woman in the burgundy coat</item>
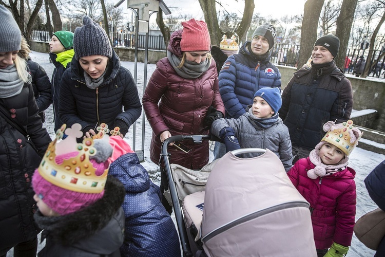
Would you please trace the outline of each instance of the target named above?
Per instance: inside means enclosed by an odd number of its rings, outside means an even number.
[[[185,60],[183,66],[181,68],[177,68],[181,64],[181,59],[168,50],[167,58],[177,74],[184,79],[196,79],[200,77],[211,65],[210,60],[207,58],[204,62],[199,64]]]

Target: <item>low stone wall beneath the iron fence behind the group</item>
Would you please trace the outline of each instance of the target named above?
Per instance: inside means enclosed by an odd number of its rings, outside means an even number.
[[[31,49],[37,52],[49,52],[48,43],[31,42]],[[135,58],[134,49],[114,48],[118,53],[121,61],[133,62]],[[138,50],[138,62],[144,62],[144,50]],[[148,51],[148,63],[157,63],[160,59],[166,57],[165,51]],[[290,79],[293,77],[294,67],[277,65],[281,72],[281,80],[283,89]],[[356,77],[348,77],[352,82],[354,105],[357,111],[363,109],[375,109],[377,111],[377,119],[371,123],[369,128],[373,130],[385,132],[385,82],[373,81]],[[367,123],[368,125],[369,123]]]

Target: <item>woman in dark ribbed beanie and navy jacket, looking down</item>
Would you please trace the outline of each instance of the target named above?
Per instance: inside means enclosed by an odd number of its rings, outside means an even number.
[[[118,127],[124,137],[142,112],[131,73],[120,65],[104,29],[88,16],[75,29],[73,49],[75,58],[60,82],[60,120],[81,124],[85,137],[95,135],[101,123]]]

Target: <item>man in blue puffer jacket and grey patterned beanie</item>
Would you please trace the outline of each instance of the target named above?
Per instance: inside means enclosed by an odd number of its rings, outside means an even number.
[[[219,73],[219,91],[226,108],[226,118],[235,118],[246,113],[247,105],[253,104],[256,91],[262,87],[281,87],[279,69],[270,62],[276,28],[265,23],[253,33],[238,54],[230,56]],[[215,158],[225,154],[225,148],[214,149]]]

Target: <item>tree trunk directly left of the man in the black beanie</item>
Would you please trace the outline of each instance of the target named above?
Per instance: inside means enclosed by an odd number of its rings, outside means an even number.
[[[303,12],[301,28],[301,49],[298,67],[301,68],[312,54],[313,44],[317,40],[319,15],[321,14],[324,0],[307,0]]]

